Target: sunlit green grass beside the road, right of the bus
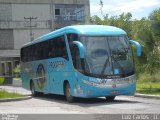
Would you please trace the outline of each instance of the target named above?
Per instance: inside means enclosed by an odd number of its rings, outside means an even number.
[[[137,93],[160,95],[160,74],[143,73],[137,80]]]

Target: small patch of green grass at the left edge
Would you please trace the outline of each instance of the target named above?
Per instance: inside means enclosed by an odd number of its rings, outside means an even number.
[[[0,99],[18,98],[18,97],[24,97],[24,95],[21,95],[21,94],[18,94],[18,93],[9,93],[5,90],[0,90]]]

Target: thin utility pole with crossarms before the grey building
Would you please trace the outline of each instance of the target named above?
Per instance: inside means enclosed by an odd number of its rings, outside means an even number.
[[[28,18],[24,17],[24,19],[29,20],[29,25],[27,25],[25,27],[29,27],[29,29],[30,29],[30,39],[31,39],[31,41],[33,41],[34,40],[34,36],[33,36],[34,34],[32,32],[32,28],[37,27],[37,25],[32,25],[32,20],[36,20],[37,17],[28,17]]]

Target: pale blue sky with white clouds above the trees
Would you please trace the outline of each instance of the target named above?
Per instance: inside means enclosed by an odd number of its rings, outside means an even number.
[[[100,0],[90,0],[91,16],[102,16],[100,11]],[[160,0],[102,0],[103,15],[109,16],[119,15],[121,13],[132,13],[133,19],[141,19],[148,17],[149,14],[160,8]]]

